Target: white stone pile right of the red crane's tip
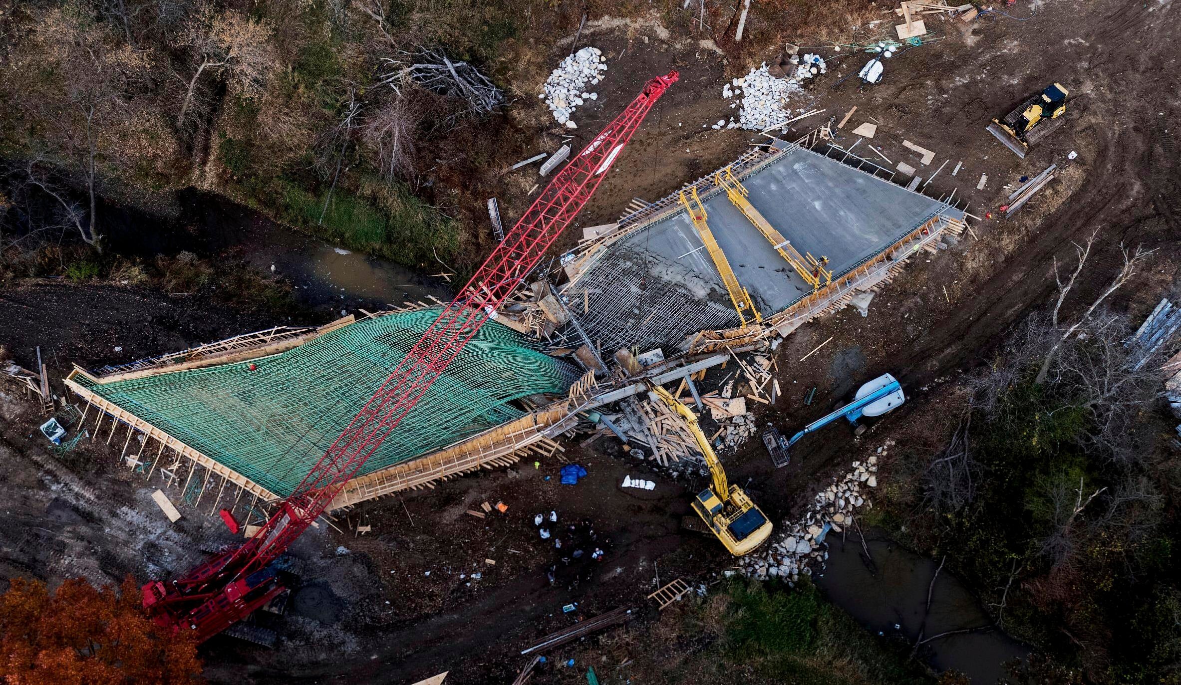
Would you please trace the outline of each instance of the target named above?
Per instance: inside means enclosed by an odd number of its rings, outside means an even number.
[[[730,117],[730,123],[719,120],[711,128],[762,131],[792,118],[788,102],[804,92],[801,83],[824,73],[828,66],[818,54],[808,53],[803,58],[791,59],[796,67],[787,78],[772,76],[764,61],[761,67],[750,70],[743,78],[725,84],[722,87],[722,97],[726,99],[742,97],[742,100],[730,104],[731,107],[742,105],[738,110],[738,120]]]

